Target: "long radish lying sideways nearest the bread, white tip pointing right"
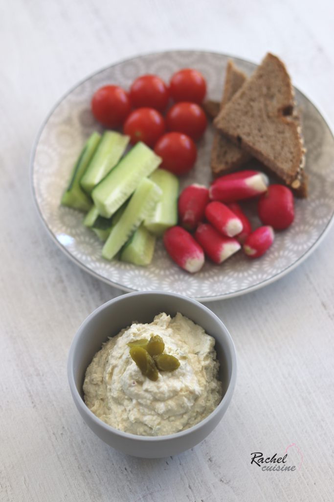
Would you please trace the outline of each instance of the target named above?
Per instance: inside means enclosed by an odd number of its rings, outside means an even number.
[[[256,171],[240,171],[216,178],[209,188],[211,200],[235,202],[266,192],[268,178]]]

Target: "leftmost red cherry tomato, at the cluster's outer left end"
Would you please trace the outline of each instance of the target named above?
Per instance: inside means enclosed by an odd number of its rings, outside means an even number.
[[[128,93],[117,85],[100,87],[93,94],[91,106],[95,118],[110,129],[121,127],[131,110]]]

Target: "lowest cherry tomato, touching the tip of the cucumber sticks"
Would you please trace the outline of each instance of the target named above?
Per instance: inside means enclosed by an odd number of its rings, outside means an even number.
[[[157,141],[154,151],[162,158],[160,167],[176,176],[190,171],[197,157],[195,143],[189,136],[181,133],[164,134]]]

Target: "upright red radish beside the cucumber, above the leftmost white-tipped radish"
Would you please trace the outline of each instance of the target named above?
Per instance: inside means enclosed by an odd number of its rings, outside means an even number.
[[[181,226],[189,231],[195,230],[204,217],[209,202],[209,190],[204,185],[189,185],[180,194],[178,201]]]

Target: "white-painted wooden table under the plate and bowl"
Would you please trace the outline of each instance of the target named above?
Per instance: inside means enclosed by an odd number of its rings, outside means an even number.
[[[193,450],[141,460],[93,435],[67,383],[76,329],[120,292],[55,246],[29,179],[54,102],[140,53],[197,48],[258,62],[270,50],[334,123],[333,3],[13,0],[0,11],[0,500],[333,500],[334,229],[280,281],[209,304],[238,352],[232,403]],[[252,452],[281,454],[291,443],[303,455],[298,471],[251,465]]]

